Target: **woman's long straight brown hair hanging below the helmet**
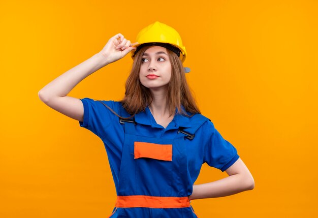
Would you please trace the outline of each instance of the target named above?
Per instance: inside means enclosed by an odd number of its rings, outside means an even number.
[[[152,102],[152,96],[149,88],[143,86],[139,80],[140,66],[142,63],[141,58],[143,53],[149,47],[150,46],[145,46],[141,48],[140,51],[136,54],[131,73],[128,79],[126,80],[125,96],[120,101],[123,108],[129,114],[132,114],[131,117],[145,110],[145,108]],[[180,58],[169,49],[167,49],[167,52],[169,55],[172,69],[171,79],[168,84],[167,91],[167,105],[169,107],[170,115],[174,115],[176,108],[177,113],[180,113],[185,116],[190,116],[187,114],[187,112],[191,113],[192,115],[195,113],[200,113],[200,110],[186,82],[184,68],[182,66]],[[182,110],[181,105],[184,107],[185,111]],[[115,113],[113,110],[111,111]]]

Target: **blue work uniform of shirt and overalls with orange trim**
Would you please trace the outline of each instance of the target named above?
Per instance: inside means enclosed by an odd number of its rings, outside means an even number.
[[[102,139],[108,155],[118,196],[110,217],[197,217],[187,196],[202,164],[225,171],[239,158],[235,147],[201,114],[175,114],[164,128],[148,107],[134,119],[120,120],[104,105],[129,117],[120,102],[81,101],[80,126]],[[152,149],[155,152],[149,153]]]

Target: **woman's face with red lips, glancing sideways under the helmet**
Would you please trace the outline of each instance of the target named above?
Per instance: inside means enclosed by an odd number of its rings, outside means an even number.
[[[142,55],[139,80],[147,88],[167,88],[171,78],[171,63],[167,49],[151,46]]]

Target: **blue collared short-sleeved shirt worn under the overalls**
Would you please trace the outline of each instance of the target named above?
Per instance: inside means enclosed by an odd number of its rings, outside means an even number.
[[[79,124],[96,134],[104,142],[117,189],[124,141],[124,124],[121,124],[119,117],[101,102],[89,98],[81,99],[81,101],[84,107],[84,119],[83,122],[79,121]],[[120,115],[120,102],[102,102]],[[156,123],[149,108],[146,107],[145,111],[135,115],[135,121],[137,122],[136,135],[174,139],[179,127],[191,127],[193,117],[175,114],[167,128],[164,128]],[[211,167],[225,171],[239,158],[235,147],[222,138],[211,121],[206,121],[197,130],[193,140],[185,140],[185,146],[187,148],[188,174],[192,179],[192,184],[198,178],[202,164],[207,163]]]

